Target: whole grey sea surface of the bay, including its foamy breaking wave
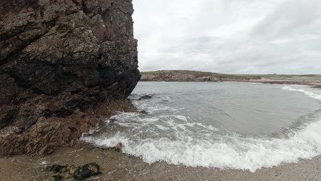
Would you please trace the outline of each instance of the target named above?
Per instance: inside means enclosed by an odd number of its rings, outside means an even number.
[[[321,154],[321,91],[308,86],[139,82],[130,99],[147,114],[119,112],[82,140],[121,142],[150,163],[250,171]]]

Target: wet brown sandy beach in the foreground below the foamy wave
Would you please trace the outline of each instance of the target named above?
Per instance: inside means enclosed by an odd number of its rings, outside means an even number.
[[[251,173],[232,169],[168,165],[165,162],[150,165],[134,156],[91,146],[83,149],[60,149],[43,158],[1,158],[0,180],[53,180],[54,174],[45,171],[48,165],[84,165],[88,162],[97,162],[102,172],[88,180],[321,180],[321,156]]]

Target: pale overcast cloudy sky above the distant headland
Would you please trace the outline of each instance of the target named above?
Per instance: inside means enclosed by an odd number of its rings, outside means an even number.
[[[321,73],[320,0],[133,0],[139,69]]]

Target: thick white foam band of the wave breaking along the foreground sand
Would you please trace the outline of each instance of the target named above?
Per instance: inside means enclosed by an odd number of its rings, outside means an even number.
[[[143,158],[145,162],[163,160],[170,164],[221,169],[272,167],[298,158],[312,158],[321,154],[321,121],[311,123],[288,139],[242,138],[226,136],[220,142],[185,137],[178,141],[169,138],[146,138],[131,141],[121,132],[111,138],[83,137],[82,140],[99,146],[112,147],[121,142],[123,152]]]

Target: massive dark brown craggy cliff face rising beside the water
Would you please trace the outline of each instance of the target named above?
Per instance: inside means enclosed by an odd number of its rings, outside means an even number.
[[[0,156],[73,145],[88,110],[130,95],[132,13],[132,0],[0,1]]]

